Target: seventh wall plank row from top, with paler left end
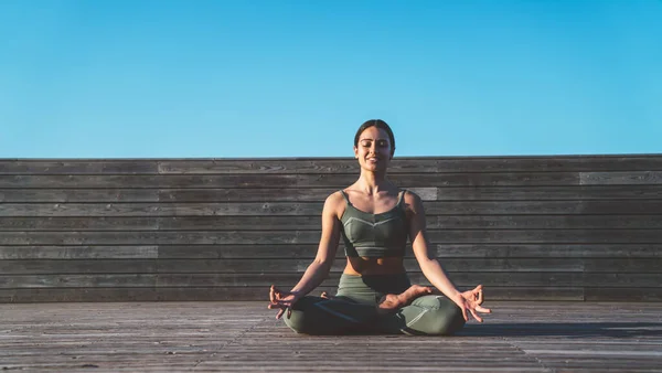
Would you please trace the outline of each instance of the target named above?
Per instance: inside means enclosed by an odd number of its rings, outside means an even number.
[[[0,246],[0,259],[309,259],[317,245],[82,245]],[[662,258],[659,244],[437,244],[437,256],[492,258]],[[406,257],[413,258],[412,248]],[[344,247],[337,251],[344,260]],[[656,263],[656,262],[652,262]]]

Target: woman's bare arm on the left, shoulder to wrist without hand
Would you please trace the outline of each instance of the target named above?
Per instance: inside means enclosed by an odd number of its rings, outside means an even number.
[[[314,260],[308,266],[299,283],[290,290],[300,297],[317,288],[329,275],[338,243],[340,241],[339,205],[344,201],[339,193],[333,193],[324,201],[322,210],[322,236]]]

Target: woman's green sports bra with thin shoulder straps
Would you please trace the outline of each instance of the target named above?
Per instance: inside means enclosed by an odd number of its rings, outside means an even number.
[[[340,219],[346,256],[405,256],[408,235],[404,207],[406,191],[401,192],[395,207],[378,214],[354,207],[348,194],[343,190],[340,192],[348,204]]]

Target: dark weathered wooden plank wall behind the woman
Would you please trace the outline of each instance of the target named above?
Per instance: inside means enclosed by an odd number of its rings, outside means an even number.
[[[266,300],[300,278],[324,198],[357,174],[345,158],[0,160],[0,301]],[[426,201],[461,288],[662,300],[662,154],[399,158],[389,178]]]

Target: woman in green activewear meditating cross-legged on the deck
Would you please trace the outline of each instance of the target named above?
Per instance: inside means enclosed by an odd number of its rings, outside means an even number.
[[[386,179],[394,151],[385,121],[359,128],[354,156],[361,177],[327,198],[317,257],[290,291],[271,286],[268,307],[279,309],[278,319],[287,313],[285,322],[296,332],[451,334],[469,315],[482,322],[478,312],[491,312],[480,306],[482,287],[460,292],[429,249],[420,198]],[[337,296],[307,296],[328,276],[341,236],[346,265]],[[423,274],[445,297],[410,285],[403,260],[407,236]]]

